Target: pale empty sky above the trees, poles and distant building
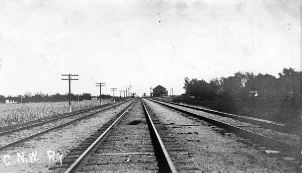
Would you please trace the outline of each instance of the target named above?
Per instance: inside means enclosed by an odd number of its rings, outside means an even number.
[[[301,70],[297,0],[1,0],[0,95],[74,94],[96,82],[141,96],[184,78]],[[118,94],[119,96],[119,94]]]

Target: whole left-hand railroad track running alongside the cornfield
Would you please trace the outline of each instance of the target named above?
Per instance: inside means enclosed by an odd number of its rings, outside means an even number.
[[[21,128],[9,130],[0,133],[0,150],[6,149],[35,136],[42,135],[48,131],[58,129],[73,122],[88,118],[94,114],[105,111],[107,109],[119,106],[126,101],[120,101],[112,104],[106,104],[99,107],[94,107],[88,110],[68,114],[62,117],[54,118],[48,121],[24,126]],[[97,110],[97,111],[94,111]]]

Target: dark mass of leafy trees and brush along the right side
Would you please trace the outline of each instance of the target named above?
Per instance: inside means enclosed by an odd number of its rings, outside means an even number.
[[[188,96],[212,100],[207,106],[215,109],[294,123],[302,110],[302,72],[284,68],[278,75],[236,72],[209,82],[186,77],[183,88]]]

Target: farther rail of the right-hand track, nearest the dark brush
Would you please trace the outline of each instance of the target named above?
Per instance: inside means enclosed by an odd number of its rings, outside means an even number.
[[[157,100],[157,101],[160,101],[160,100]],[[184,107],[184,108],[190,108],[190,109],[194,109],[194,110],[198,110],[198,111],[203,111],[203,112],[206,112],[206,113],[215,114],[215,115],[219,115],[219,116],[222,116],[222,117],[232,118],[234,120],[238,120],[238,121],[242,121],[242,122],[246,122],[246,123],[251,123],[251,124],[254,124],[254,125],[257,125],[257,126],[262,126],[262,127],[265,127],[265,128],[269,128],[269,129],[272,129],[272,130],[279,131],[279,132],[299,135],[298,128],[296,126],[292,126],[292,125],[266,122],[266,121],[261,121],[261,120],[249,118],[249,117],[243,117],[243,116],[228,114],[228,113],[214,111],[214,110],[210,110],[210,109],[197,108],[197,107],[193,107],[193,106],[187,106],[187,105],[177,104],[177,103],[168,102],[168,101],[162,101],[161,100],[160,102],[165,102],[165,103],[169,103],[169,104],[172,104],[172,105],[181,106],[181,107]]]

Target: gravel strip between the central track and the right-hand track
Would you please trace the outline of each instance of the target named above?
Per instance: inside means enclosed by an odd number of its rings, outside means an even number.
[[[159,116],[182,146],[189,151],[195,166],[203,172],[300,172],[298,164],[285,161],[259,148],[241,142],[237,135],[222,135],[201,122],[144,99],[150,114]],[[174,126],[173,124],[199,125]]]

